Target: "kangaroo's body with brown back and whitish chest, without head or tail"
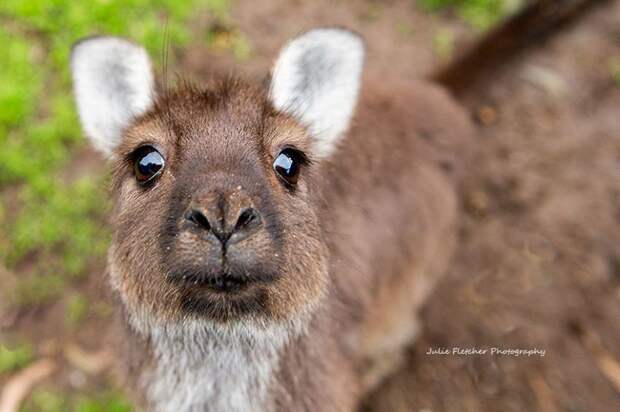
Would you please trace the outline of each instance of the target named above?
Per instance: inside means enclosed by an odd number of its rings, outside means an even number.
[[[125,376],[147,410],[353,410],[398,364],[450,261],[472,129],[439,88],[394,87],[362,93],[351,131],[321,167],[331,285],[308,325],[124,327]]]

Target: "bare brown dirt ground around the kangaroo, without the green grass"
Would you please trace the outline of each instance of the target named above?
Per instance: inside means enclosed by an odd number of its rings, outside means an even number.
[[[419,78],[442,63],[435,44],[442,30],[454,33],[456,51],[475,39],[454,16],[423,13],[413,1],[255,0],[235,3],[232,15],[252,45],[247,62],[198,39],[175,52],[174,69],[197,78],[234,69],[260,81],[285,39],[342,25],[365,37],[369,77]],[[197,33],[210,23],[198,16]],[[620,411],[620,87],[607,64],[614,55],[620,2],[527,54],[465,102],[479,136],[463,188],[460,247],[424,309],[407,364],[370,397],[369,410]],[[95,300],[102,270],[94,267],[82,285]],[[52,353],[59,342],[106,349],[100,338],[108,320],[56,336],[61,309],[4,322]],[[426,354],[453,347],[545,354]],[[66,355],[80,363],[79,353]],[[54,375],[58,384],[75,385],[79,376],[63,373],[70,370]]]

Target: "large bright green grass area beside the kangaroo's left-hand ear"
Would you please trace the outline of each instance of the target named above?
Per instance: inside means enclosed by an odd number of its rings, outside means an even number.
[[[85,145],[71,94],[72,44],[94,34],[128,37],[158,66],[166,31],[182,46],[196,11],[222,18],[228,8],[228,0],[0,2],[0,260],[22,279],[12,303],[59,297],[109,240],[102,162],[86,176],[66,170]],[[248,53],[243,40],[233,49]]]

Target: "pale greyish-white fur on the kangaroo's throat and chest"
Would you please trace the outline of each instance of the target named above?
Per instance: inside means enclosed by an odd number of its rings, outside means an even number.
[[[290,329],[192,323],[151,329],[140,377],[154,412],[272,410],[272,388]]]

